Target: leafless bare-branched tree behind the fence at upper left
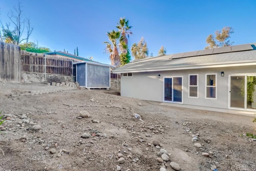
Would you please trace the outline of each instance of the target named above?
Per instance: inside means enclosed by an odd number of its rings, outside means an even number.
[[[10,13],[8,13],[7,16],[10,19],[10,22],[13,24],[14,29],[10,30],[9,28],[10,24],[6,23],[6,28],[3,27],[2,29],[3,38],[4,40],[7,39],[7,42],[9,41],[14,44],[20,44],[24,40],[26,40],[26,43],[28,43],[29,37],[34,28],[31,27],[29,18],[26,18],[26,20],[23,19],[22,6],[20,2],[18,2],[18,6],[14,6],[13,8],[14,8],[14,11],[11,11]],[[22,34],[24,32],[25,26],[26,26],[26,37],[22,38]]]

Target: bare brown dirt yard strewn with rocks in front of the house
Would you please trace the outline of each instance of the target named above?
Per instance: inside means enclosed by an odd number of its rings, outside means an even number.
[[[8,119],[0,125],[0,171],[256,170],[256,139],[245,135],[256,134],[255,116],[102,89],[14,96],[22,87],[0,83],[0,111]]]

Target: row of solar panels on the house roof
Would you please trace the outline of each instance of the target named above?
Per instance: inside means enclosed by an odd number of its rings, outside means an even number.
[[[228,52],[239,52],[239,51],[246,51],[246,50],[253,50],[252,45],[242,44],[242,45],[235,45],[235,46],[224,46],[221,48],[198,50],[198,51],[192,51],[192,52],[183,52],[179,54],[174,54],[170,59],[187,58],[192,56],[204,56],[204,55],[212,55],[212,54],[222,54],[222,53],[228,53]]]

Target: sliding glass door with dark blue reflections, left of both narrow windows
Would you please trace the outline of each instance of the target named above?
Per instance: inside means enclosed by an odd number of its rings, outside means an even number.
[[[164,78],[164,101],[182,103],[182,77]]]

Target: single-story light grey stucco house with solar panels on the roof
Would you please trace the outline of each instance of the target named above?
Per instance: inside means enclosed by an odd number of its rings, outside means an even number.
[[[256,44],[134,60],[121,96],[226,113],[256,113]]]

